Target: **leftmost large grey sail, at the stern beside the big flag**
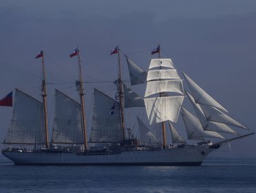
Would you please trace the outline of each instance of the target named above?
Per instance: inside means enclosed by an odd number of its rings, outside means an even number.
[[[43,103],[16,89],[12,120],[4,143],[45,143]]]

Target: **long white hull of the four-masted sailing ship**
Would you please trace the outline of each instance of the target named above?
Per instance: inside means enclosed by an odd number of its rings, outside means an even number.
[[[73,152],[8,152],[16,165],[201,165],[214,148],[199,145],[166,150],[125,151],[120,154],[86,155]]]

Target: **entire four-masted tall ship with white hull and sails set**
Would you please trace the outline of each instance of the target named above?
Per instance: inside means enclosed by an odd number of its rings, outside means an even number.
[[[125,55],[131,86],[122,80],[118,46],[112,54],[118,58],[118,79],[114,81],[116,97],[113,99],[94,88],[88,129],[80,51],[77,48],[71,53],[70,57],[77,57],[79,77],[75,85],[80,101],[55,90],[55,115],[49,141],[42,50],[36,57],[42,59],[42,101],[15,90],[12,119],[2,154],[15,165],[201,165],[221,145],[254,134],[182,72],[189,90],[185,89],[172,59],[161,58],[160,45],[152,51],[152,55],[158,57],[151,59],[147,72]],[[144,97],[131,89],[138,84],[146,86]],[[194,112],[184,107],[185,100]],[[7,102],[10,105],[10,94],[0,105]],[[137,135],[133,128],[126,126],[128,108],[140,108],[147,114],[147,119],[133,114],[138,125]],[[177,124],[179,120],[184,126]],[[181,131],[194,143],[188,143]]]

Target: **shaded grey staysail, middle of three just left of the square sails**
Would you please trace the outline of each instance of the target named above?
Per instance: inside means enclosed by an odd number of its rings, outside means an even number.
[[[124,85],[125,108],[145,107],[144,100],[130,88]]]

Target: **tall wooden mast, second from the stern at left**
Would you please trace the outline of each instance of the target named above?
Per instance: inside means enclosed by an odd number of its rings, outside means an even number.
[[[86,121],[85,121],[85,113],[84,113],[84,88],[82,82],[82,66],[80,61],[80,52],[77,47],[77,56],[78,56],[78,68],[79,68],[79,94],[80,94],[80,102],[82,106],[82,128],[84,131],[84,150],[87,150],[87,137],[86,137]]]

